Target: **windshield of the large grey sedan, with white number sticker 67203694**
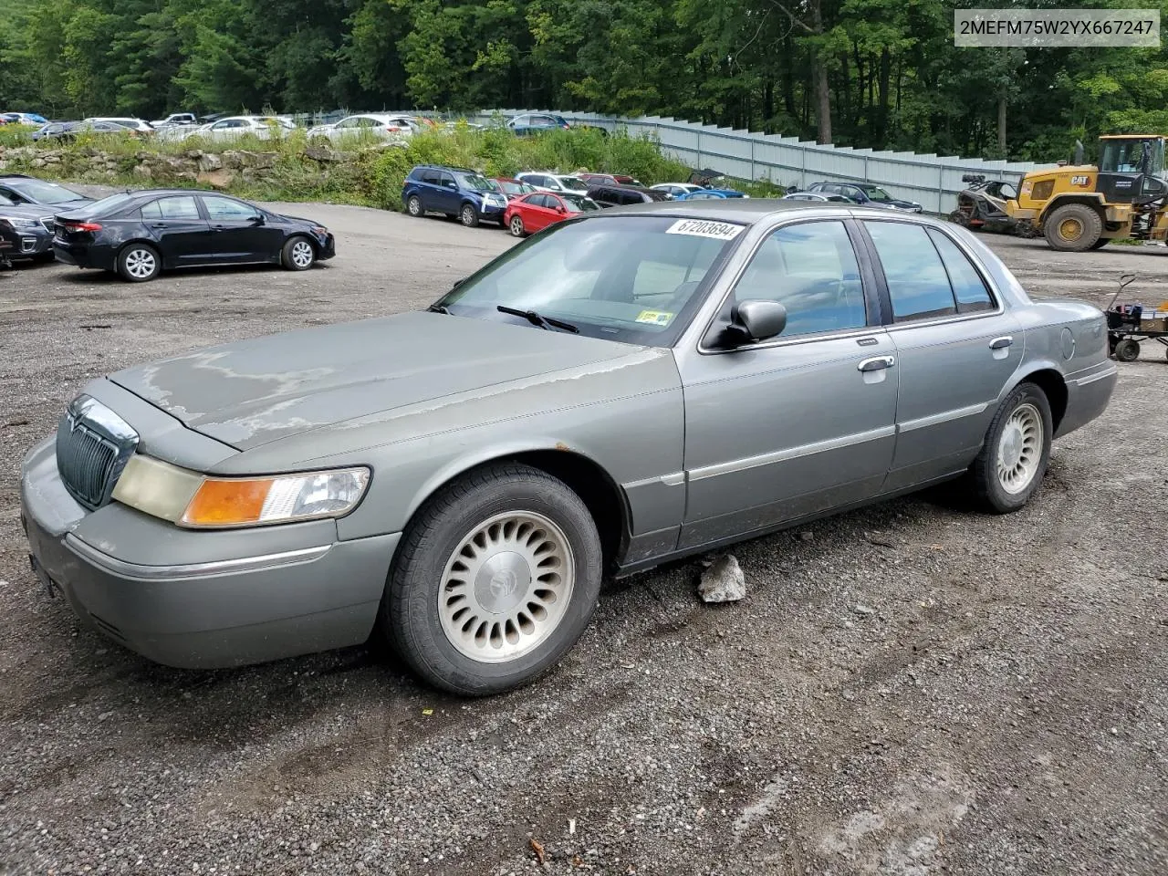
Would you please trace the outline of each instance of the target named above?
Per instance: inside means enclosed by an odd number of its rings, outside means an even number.
[[[668,347],[743,230],[670,216],[569,220],[499,256],[437,304],[459,317],[522,325],[495,308],[534,310],[591,338]]]

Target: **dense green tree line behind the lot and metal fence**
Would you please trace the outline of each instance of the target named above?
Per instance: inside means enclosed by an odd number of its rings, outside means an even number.
[[[1162,49],[958,49],[954,4],[2,0],[0,110],[585,110],[1042,161],[1168,131]]]

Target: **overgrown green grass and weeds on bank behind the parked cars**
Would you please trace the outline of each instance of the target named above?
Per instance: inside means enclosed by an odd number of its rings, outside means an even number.
[[[32,146],[27,153],[13,157],[8,151],[9,172],[75,182],[112,186],[142,186],[134,168],[152,168],[151,181],[167,186],[199,186],[181,176],[183,162],[168,162],[193,150],[222,154],[229,150],[274,153],[271,167],[235,174],[225,190],[241,197],[263,201],[327,201],[397,210],[402,208],[402,185],[415,165],[433,164],[470,167],[488,176],[514,176],[522,171],[573,173],[580,168],[600,173],[626,173],[646,185],[676,182],[689,178],[688,168],[661,153],[647,137],[625,134],[604,137],[598,131],[550,131],[537,137],[516,137],[501,128],[474,130],[458,125],[451,132],[415,134],[402,146],[384,146],[376,141],[355,140],[341,160],[318,161],[310,158],[306,132],[259,140],[244,135],[231,142],[207,142],[197,138],[181,141],[140,140],[111,134],[82,134],[68,144],[39,142],[28,139],[29,128],[19,131],[0,127],[0,146]],[[34,161],[53,152],[60,162],[36,166]],[[100,161],[95,167],[95,157]],[[766,183],[757,183],[766,186]],[[773,188],[773,187],[772,187]],[[752,196],[755,190],[746,189]],[[765,196],[765,195],[763,195]]]

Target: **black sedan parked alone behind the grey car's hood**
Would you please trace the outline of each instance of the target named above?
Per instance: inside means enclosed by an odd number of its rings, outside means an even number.
[[[317,222],[190,189],[111,195],[58,213],[55,228],[60,262],[117,271],[133,283],[196,265],[271,263],[306,271],[336,255],[333,235]]]

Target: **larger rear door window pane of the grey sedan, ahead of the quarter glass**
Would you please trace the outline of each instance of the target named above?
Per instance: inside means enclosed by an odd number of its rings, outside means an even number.
[[[948,273],[923,225],[869,221],[864,228],[884,269],[894,322],[957,313]]]

